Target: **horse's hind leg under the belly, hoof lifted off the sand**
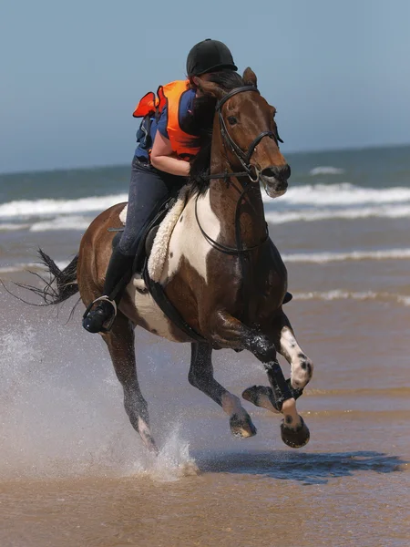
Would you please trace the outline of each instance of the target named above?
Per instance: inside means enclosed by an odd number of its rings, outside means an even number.
[[[230,427],[237,437],[256,435],[248,412],[241,406],[239,397],[232,395],[213,377],[212,348],[205,343],[191,344],[190,384],[213,399],[230,417]]]

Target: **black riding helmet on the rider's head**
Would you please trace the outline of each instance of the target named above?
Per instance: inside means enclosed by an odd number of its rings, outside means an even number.
[[[233,62],[231,51],[219,40],[207,38],[190,50],[187,58],[187,74],[200,76],[206,72],[229,68],[238,70]]]

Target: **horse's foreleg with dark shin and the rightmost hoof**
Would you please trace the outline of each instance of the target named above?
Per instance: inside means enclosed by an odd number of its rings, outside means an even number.
[[[281,424],[282,440],[292,448],[300,448],[309,441],[309,429],[296,410],[296,398],[292,386],[286,382],[282,368],[276,359],[272,336],[264,335],[243,325],[235,317],[220,312],[214,318],[213,342],[233,349],[248,349],[263,364],[272,388],[272,408],[279,410],[284,419]]]

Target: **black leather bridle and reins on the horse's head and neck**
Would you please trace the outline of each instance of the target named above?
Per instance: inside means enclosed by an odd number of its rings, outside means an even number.
[[[218,112],[218,119],[220,122],[220,134],[223,139],[223,145],[224,147],[229,147],[231,152],[237,157],[238,160],[240,160],[241,165],[243,167],[243,171],[236,171],[236,172],[224,172],[224,173],[215,173],[208,175],[206,178],[208,180],[211,179],[224,179],[225,181],[230,180],[231,178],[243,178],[247,177],[248,181],[245,183],[243,190],[241,191],[241,194],[238,198],[238,201],[236,203],[236,209],[235,209],[235,241],[236,241],[236,247],[229,247],[227,245],[223,245],[222,243],[216,242],[213,240],[208,233],[206,233],[202,226],[200,225],[200,219],[198,217],[198,198],[199,194],[197,195],[197,198],[195,200],[195,217],[198,222],[198,226],[200,228],[200,232],[203,235],[203,237],[207,240],[210,245],[216,249],[217,251],[220,251],[220,253],[225,254],[232,254],[232,255],[238,255],[240,258],[241,263],[241,271],[242,274],[245,272],[245,264],[244,264],[244,254],[250,253],[254,249],[257,249],[261,247],[264,243],[266,243],[269,239],[269,232],[268,232],[268,225],[266,224],[266,233],[265,237],[263,238],[263,241],[261,243],[258,243],[256,245],[253,245],[252,247],[248,247],[246,249],[243,248],[243,244],[241,241],[241,223],[240,223],[240,217],[241,217],[241,203],[243,201],[243,198],[245,197],[245,194],[253,190],[255,188],[255,184],[259,183],[261,180],[261,173],[260,170],[258,170],[255,166],[251,166],[251,157],[253,152],[255,151],[257,145],[261,142],[261,139],[264,139],[265,137],[269,137],[270,139],[274,139],[276,144],[279,142],[282,142],[282,139],[280,139],[279,135],[276,135],[273,133],[273,131],[263,131],[256,139],[253,139],[251,142],[251,145],[249,149],[244,152],[241,150],[241,148],[236,144],[236,142],[231,138],[231,135],[226,127],[225,120],[222,116],[222,107],[223,105],[232,97],[237,95],[238,93],[243,93],[245,91],[252,91],[253,93],[258,93],[259,90],[257,88],[254,88],[253,86],[243,86],[242,88],[235,88],[232,89],[229,93],[227,93],[224,97],[222,97],[216,107],[215,110]],[[252,173],[252,168],[254,169],[254,172]]]

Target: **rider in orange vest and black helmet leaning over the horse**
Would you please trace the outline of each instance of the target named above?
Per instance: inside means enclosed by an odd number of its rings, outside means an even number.
[[[88,332],[107,331],[112,325],[145,229],[160,205],[187,183],[190,159],[199,151],[190,144],[194,140],[190,123],[193,100],[198,95],[194,77],[206,79],[221,70],[238,68],[229,48],[208,38],[190,50],[189,79],[160,87],[159,98],[148,93],[139,101],[133,116],[143,119],[132,161],[126,225],[108,263],[103,296],[84,315],[83,326]]]

